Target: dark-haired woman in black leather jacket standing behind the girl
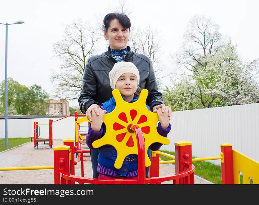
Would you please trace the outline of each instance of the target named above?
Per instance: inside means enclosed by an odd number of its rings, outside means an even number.
[[[134,53],[127,42],[129,41],[130,20],[123,13],[110,13],[104,17],[103,32],[105,40],[109,41],[108,50],[100,55],[94,55],[87,60],[84,75],[83,87],[78,99],[82,113],[92,121],[92,109],[98,116],[102,112],[100,104],[112,97],[112,88],[109,84],[109,72],[114,63],[120,61],[132,62],[140,73],[140,88],[148,90],[146,103],[153,112],[159,108],[165,110],[162,100],[162,93],[157,89],[154,69],[150,58],[145,55]],[[168,107],[168,116],[171,118],[171,107]],[[104,111],[106,113],[106,111]],[[149,154],[150,154],[149,150]],[[91,150],[91,162],[93,178],[98,178],[97,157],[98,150]],[[146,169],[148,175],[148,168]]]

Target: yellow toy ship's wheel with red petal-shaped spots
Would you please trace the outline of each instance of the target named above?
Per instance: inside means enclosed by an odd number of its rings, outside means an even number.
[[[145,104],[148,95],[147,89],[143,89],[139,99],[133,103],[124,101],[118,89],[114,89],[112,95],[116,101],[115,109],[104,114],[103,122],[106,132],[102,138],[93,142],[93,147],[112,145],[118,154],[114,167],[121,168],[127,155],[137,154],[136,134],[128,131],[128,127],[135,124],[141,128],[145,140],[145,166],[150,166],[147,148],[154,142],[168,145],[170,140],[157,132],[158,115],[147,109]]]

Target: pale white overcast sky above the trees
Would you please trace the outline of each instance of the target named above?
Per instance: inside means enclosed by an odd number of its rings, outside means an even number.
[[[130,3],[130,4],[129,4]],[[63,25],[74,19],[93,21],[119,6],[117,0],[8,0],[1,1],[0,23],[8,26],[8,77],[27,87],[40,85],[52,94],[51,71],[59,70],[52,44],[62,39]],[[211,17],[220,32],[228,35],[244,62],[259,58],[258,1],[126,1],[132,26],[148,26],[160,32],[165,53],[175,53],[187,22],[194,14]],[[5,79],[5,25],[0,24],[0,81]],[[82,79],[79,79],[82,81]],[[77,105],[71,102],[70,105]]]

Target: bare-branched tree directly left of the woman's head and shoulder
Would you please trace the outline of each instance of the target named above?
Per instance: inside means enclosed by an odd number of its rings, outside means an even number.
[[[55,56],[63,64],[59,71],[54,71],[51,82],[54,85],[55,97],[77,99],[82,90],[82,77],[87,58],[96,52],[98,40],[96,31],[88,22],[77,19],[64,29],[64,38],[53,45]]]

